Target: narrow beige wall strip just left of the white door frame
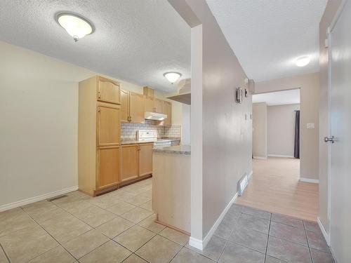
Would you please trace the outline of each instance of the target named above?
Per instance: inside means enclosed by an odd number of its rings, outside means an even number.
[[[319,23],[319,219],[329,231],[328,215],[328,144],[322,143],[329,134],[328,48],[325,48],[326,29],[331,24],[341,0],[329,0]]]

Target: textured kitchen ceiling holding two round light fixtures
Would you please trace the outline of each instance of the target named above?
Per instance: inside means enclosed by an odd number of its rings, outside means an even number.
[[[141,86],[174,91],[190,78],[190,27],[166,0],[1,0],[0,40]],[[72,11],[95,32],[74,43],[55,21]]]

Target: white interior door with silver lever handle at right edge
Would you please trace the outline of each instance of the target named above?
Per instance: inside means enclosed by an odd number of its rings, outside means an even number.
[[[351,262],[351,1],[329,34],[331,88],[331,250],[338,263]]]

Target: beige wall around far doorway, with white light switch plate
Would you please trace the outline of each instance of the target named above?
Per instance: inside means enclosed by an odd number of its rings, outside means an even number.
[[[257,82],[256,93],[300,88],[300,177],[319,179],[319,73]],[[307,129],[314,123],[314,129]]]

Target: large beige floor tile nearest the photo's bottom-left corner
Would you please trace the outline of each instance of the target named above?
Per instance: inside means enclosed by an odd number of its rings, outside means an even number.
[[[58,246],[58,243],[39,225],[2,236],[0,243],[13,263],[27,262]]]

